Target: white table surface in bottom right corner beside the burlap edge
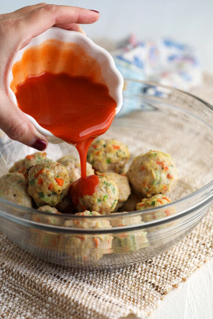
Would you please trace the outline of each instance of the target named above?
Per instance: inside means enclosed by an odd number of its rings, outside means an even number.
[[[135,319],[129,315],[126,319]],[[212,319],[213,257],[192,276],[173,288],[161,300],[148,319]],[[125,319],[124,317],[120,319]]]

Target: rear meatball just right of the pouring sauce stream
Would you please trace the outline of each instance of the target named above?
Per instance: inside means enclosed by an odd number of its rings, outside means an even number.
[[[96,140],[88,150],[87,161],[100,172],[125,172],[125,165],[129,160],[128,147],[115,139]]]

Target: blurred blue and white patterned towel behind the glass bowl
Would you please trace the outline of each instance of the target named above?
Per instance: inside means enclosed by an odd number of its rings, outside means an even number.
[[[124,78],[153,81],[183,91],[202,83],[196,50],[171,39],[137,41],[131,35],[111,54]],[[123,105],[118,116],[126,112],[128,108]]]

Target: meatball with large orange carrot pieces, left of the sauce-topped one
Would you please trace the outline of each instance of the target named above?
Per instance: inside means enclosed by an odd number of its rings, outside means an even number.
[[[56,206],[63,202],[70,185],[65,166],[44,159],[29,169],[27,192],[37,206]]]

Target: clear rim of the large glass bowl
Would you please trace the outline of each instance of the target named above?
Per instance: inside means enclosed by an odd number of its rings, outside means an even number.
[[[184,95],[188,95],[191,98],[200,101],[203,105],[205,105],[207,108],[210,108],[211,111],[213,111],[213,106],[211,104],[209,104],[208,102],[204,101],[203,99],[195,96],[194,94],[185,92],[183,90],[180,89],[176,89],[167,85],[162,85],[156,82],[151,82],[151,81],[141,81],[141,80],[134,80],[131,78],[124,78],[124,81],[129,81],[129,82],[138,82],[141,84],[148,84],[151,86],[158,86],[158,87],[162,87],[165,89],[169,89],[171,90],[171,92],[178,92]],[[150,98],[150,97],[149,97]],[[208,124],[208,123],[207,123]],[[209,126],[213,129],[213,127],[209,124]],[[196,203],[195,205],[191,205],[188,208],[184,209],[183,211],[180,211],[178,213],[175,213],[173,215],[170,216],[166,216],[164,218],[160,218],[160,219],[156,219],[156,220],[152,220],[152,221],[148,221],[148,222],[144,222],[141,224],[135,224],[135,225],[130,225],[130,226],[119,226],[119,227],[112,227],[112,228],[94,228],[94,229],[87,229],[87,228],[72,228],[72,227],[67,227],[67,226],[54,226],[54,225],[50,225],[48,223],[39,223],[39,222],[35,222],[29,219],[25,219],[22,216],[18,216],[18,214],[13,214],[12,212],[1,212],[0,211],[0,217],[9,219],[11,221],[15,221],[17,222],[19,220],[19,224],[23,225],[23,226],[27,226],[27,227],[32,227],[35,226],[36,229],[42,229],[42,230],[47,230],[50,232],[61,232],[61,233],[87,233],[87,234],[102,234],[102,233],[114,233],[114,232],[123,232],[125,230],[135,230],[135,229],[146,229],[146,228],[151,228],[154,226],[159,226],[162,225],[164,223],[170,222],[170,221],[174,221],[176,219],[179,219],[182,216],[186,216],[188,214],[190,214],[191,212],[194,212],[197,208],[202,207],[204,204],[208,204],[209,202],[213,201],[213,180],[211,182],[209,182],[208,184],[204,185],[202,188],[197,189],[196,191],[188,194],[185,197],[182,197],[176,201],[173,201],[169,204],[166,205],[162,205],[162,206],[158,206],[158,207],[153,207],[153,208],[148,208],[148,209],[144,209],[144,210],[135,210],[135,211],[128,211],[128,212],[118,212],[116,214],[108,214],[108,215],[100,215],[100,216],[79,216],[79,215],[69,215],[69,214],[65,214],[65,213],[60,213],[57,214],[57,219],[67,219],[67,220],[76,220],[76,219],[120,219],[120,218],[129,218],[129,217],[135,217],[135,216],[139,216],[139,215],[143,215],[143,214],[147,214],[147,213],[153,213],[159,209],[161,209],[162,207],[164,208],[164,206],[166,207],[171,207],[174,206],[175,204],[179,204],[179,203],[183,203],[186,202],[189,198],[191,197],[196,197],[196,195],[205,192],[205,190],[208,189],[208,193],[209,195],[207,197],[205,197],[204,199],[202,199],[201,201],[199,201],[198,203]],[[13,202],[10,202],[2,197],[0,197],[0,203],[4,203],[9,205],[11,208],[16,209],[16,210],[22,210],[22,211],[26,211],[26,213],[36,213],[36,214],[41,214],[41,216],[44,216],[45,218],[51,218],[51,217],[56,217],[55,213],[49,213],[49,212],[42,212],[42,211],[38,211],[34,208],[29,208],[29,207],[24,207],[24,206],[20,206],[18,204],[15,204]],[[6,215],[9,215],[8,218],[6,217]],[[114,216],[113,216],[114,215]]]

